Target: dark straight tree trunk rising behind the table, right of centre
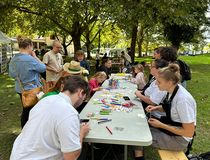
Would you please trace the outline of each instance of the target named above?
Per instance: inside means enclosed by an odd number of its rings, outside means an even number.
[[[130,47],[131,48],[130,56],[131,56],[132,63],[134,62],[134,58],[135,58],[135,47],[136,47],[137,31],[138,31],[138,25],[133,26],[131,47]]]

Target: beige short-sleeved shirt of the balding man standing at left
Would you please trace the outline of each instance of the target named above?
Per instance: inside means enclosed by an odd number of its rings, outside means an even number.
[[[63,68],[63,58],[60,53],[55,54],[52,50],[45,53],[43,57],[43,63],[53,68],[57,71],[60,71]],[[60,78],[59,73],[46,70],[46,81],[57,81]]]

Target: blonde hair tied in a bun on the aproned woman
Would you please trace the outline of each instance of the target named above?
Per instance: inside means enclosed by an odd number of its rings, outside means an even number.
[[[181,80],[179,66],[177,64],[169,64],[168,67],[159,69],[159,76],[166,81],[172,81],[173,84],[177,84]]]

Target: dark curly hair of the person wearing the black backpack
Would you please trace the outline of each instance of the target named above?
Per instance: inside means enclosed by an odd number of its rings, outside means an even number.
[[[159,50],[161,59],[174,62],[177,59],[177,50],[174,47],[161,47]]]

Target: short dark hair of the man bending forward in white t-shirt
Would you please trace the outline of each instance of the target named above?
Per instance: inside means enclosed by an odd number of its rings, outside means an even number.
[[[68,90],[71,94],[76,93],[78,89],[83,89],[83,93],[87,96],[90,93],[88,83],[82,79],[81,76],[66,76],[63,78],[61,83],[64,85],[63,91]]]

